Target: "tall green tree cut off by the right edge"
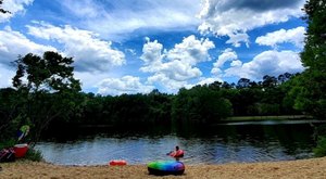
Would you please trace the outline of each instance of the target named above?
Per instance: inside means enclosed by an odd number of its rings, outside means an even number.
[[[326,1],[306,1],[308,31],[301,61],[306,67],[298,81],[294,106],[318,118],[326,117]]]

